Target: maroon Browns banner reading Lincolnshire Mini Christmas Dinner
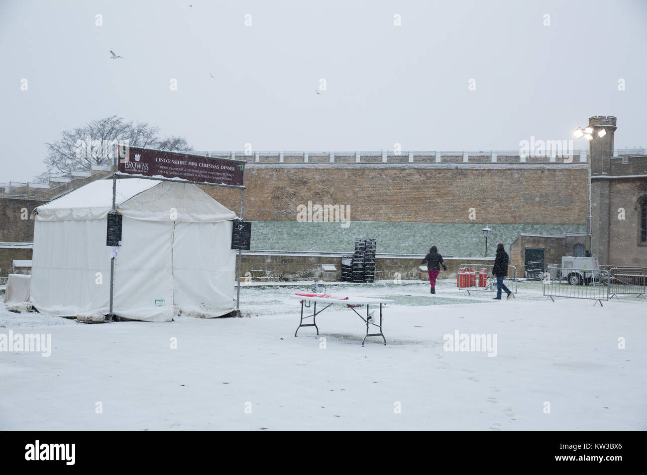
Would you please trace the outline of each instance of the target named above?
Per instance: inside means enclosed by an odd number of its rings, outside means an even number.
[[[119,153],[119,173],[180,178],[217,185],[243,185],[245,162],[178,152],[125,147]]]

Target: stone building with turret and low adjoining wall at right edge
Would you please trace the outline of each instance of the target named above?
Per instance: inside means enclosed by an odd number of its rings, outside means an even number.
[[[614,154],[617,130],[614,116],[593,116],[589,142],[590,201],[582,184],[578,202],[587,202],[590,236],[565,233],[564,236],[520,234],[510,246],[510,260],[525,275],[529,262],[541,260],[559,264],[562,256],[584,255],[589,251],[600,264],[647,267],[647,155],[643,149]],[[562,195],[555,187],[554,193]]]

